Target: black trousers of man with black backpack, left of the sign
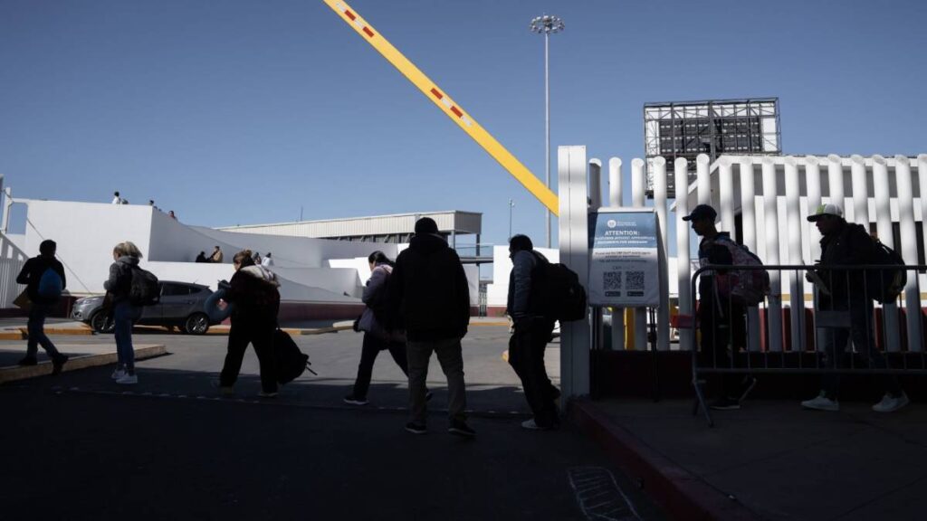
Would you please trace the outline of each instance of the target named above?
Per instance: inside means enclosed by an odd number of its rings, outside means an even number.
[[[535,423],[542,427],[560,423],[554,403],[560,398],[560,391],[553,387],[544,367],[544,350],[552,331],[553,321],[531,318],[523,324],[516,323],[509,338],[509,365],[521,379]]]

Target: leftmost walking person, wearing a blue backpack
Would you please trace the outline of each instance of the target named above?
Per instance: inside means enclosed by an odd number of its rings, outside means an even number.
[[[61,373],[61,368],[68,362],[68,355],[57,350],[55,344],[45,335],[45,318],[61,299],[61,292],[68,286],[64,275],[64,266],[55,259],[57,244],[53,240],[44,240],[39,245],[39,255],[32,257],[22,266],[16,277],[17,284],[26,285],[26,295],[32,302],[29,308],[29,340],[26,342],[26,356],[19,365],[38,363],[39,346],[52,361],[52,374]]]

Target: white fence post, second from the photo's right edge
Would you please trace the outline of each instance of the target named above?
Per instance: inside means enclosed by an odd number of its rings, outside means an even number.
[[[895,187],[898,197],[898,222],[901,236],[901,258],[905,264],[918,263],[918,241],[913,237],[918,235],[917,225],[914,223],[914,191],[911,183],[911,165],[906,156],[895,156]],[[903,196],[902,194],[907,194]],[[908,240],[908,237],[911,237]],[[908,281],[905,283],[905,308],[908,311],[908,350],[921,350],[921,294],[918,290],[918,272],[908,272]]]

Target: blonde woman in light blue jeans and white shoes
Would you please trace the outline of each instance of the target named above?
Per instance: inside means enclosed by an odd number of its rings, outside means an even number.
[[[117,384],[138,383],[135,375],[135,351],[132,347],[132,326],[142,316],[142,308],[129,300],[132,287],[132,271],[138,267],[142,252],[132,242],[121,242],[113,248],[113,263],[109,265],[109,278],[103,283],[108,299],[113,306],[115,323],[116,356],[119,364],[112,378]]]

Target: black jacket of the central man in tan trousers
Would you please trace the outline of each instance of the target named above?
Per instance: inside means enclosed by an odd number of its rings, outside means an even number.
[[[415,235],[387,288],[389,309],[412,342],[460,338],[470,323],[470,287],[457,253],[438,235]]]

